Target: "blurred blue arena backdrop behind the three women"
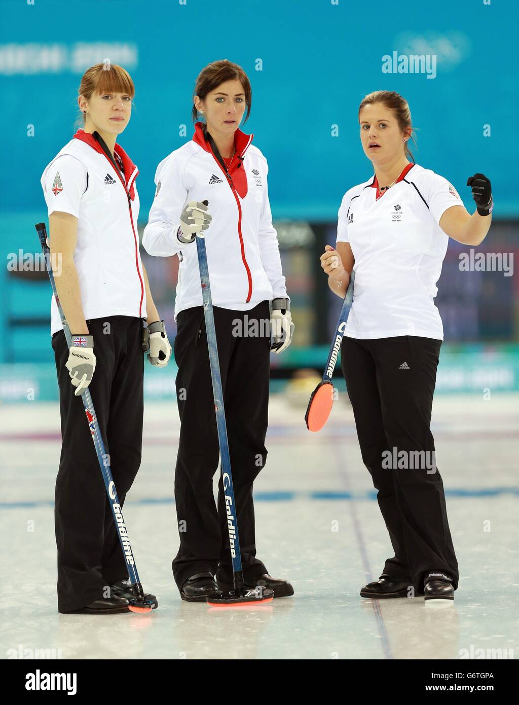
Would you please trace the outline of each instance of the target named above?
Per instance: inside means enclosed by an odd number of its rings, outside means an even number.
[[[139,166],[141,233],[156,165],[192,137],[196,75],[215,59],[235,61],[249,75],[251,117],[240,127],[254,133],[269,162],[296,322],[291,348],[273,356],[273,376],[320,369],[325,361],[340,301],[318,258],[334,244],[342,195],[373,174],[358,137],[358,104],[368,92],[396,90],[408,100],[418,128],[415,161],[451,181],[469,212],[468,176],[482,171],[492,180],[494,221],[477,252],[519,250],[512,0],[3,0],[0,13],[4,263],[19,250],[38,252],[34,224],[46,220],[40,176],[75,132],[82,73],[104,59],[125,66],[137,90],[118,141]],[[435,56],[434,76],[384,73],[383,57],[394,52]],[[450,243],[439,280],[446,341],[439,389],[479,389],[485,370],[500,380],[497,388],[519,388],[517,277],[459,271],[458,255],[468,249]],[[177,258],[143,259],[173,338]],[[55,396],[47,275],[4,266],[0,295],[0,399],[25,398],[27,384],[41,398]],[[154,384],[153,372],[146,371],[149,394],[173,393],[174,365],[168,388]]]

